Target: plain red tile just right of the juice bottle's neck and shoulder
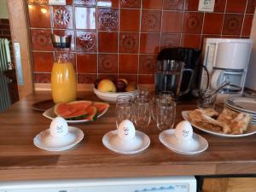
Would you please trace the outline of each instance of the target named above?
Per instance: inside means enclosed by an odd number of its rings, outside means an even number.
[[[78,73],[97,73],[97,59],[95,54],[77,54]]]

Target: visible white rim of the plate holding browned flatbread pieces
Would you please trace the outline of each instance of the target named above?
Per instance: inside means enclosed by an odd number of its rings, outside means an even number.
[[[183,111],[182,115],[183,115],[183,119],[189,121],[189,111]],[[249,127],[248,127],[248,129],[245,133],[240,134],[240,135],[231,135],[231,134],[225,134],[225,133],[221,133],[221,132],[217,132],[217,131],[210,131],[210,130],[207,130],[203,127],[194,125],[191,122],[190,122],[190,124],[193,125],[195,128],[201,130],[201,131],[210,133],[210,134],[215,135],[215,136],[220,136],[220,137],[246,137],[246,136],[251,136],[251,135],[256,133],[256,125],[252,125],[252,124],[249,125]]]

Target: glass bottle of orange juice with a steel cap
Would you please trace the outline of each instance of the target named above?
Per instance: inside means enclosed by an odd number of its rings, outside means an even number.
[[[52,98],[55,103],[72,102],[77,98],[77,80],[70,53],[67,51],[70,46],[70,40],[61,40],[61,38],[65,37],[53,36],[55,61],[51,72]]]

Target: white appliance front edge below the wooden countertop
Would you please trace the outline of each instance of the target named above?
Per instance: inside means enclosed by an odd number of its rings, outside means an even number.
[[[0,192],[195,192],[195,177],[0,182]]]

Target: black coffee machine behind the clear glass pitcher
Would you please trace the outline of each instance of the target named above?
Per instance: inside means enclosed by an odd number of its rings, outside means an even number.
[[[182,96],[179,96],[178,100],[189,100],[194,97],[193,90],[198,90],[199,74],[201,71],[201,66],[199,65],[200,55],[200,49],[177,47],[162,49],[157,56],[157,61],[183,61],[185,64],[184,68],[191,69],[193,72],[192,74],[187,73],[186,71],[183,72],[180,91],[183,92],[183,90],[188,90],[188,86],[189,91]]]

